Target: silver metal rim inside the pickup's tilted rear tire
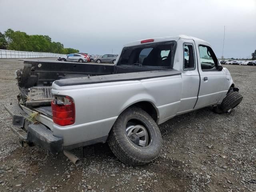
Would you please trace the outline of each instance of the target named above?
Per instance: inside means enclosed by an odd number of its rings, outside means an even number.
[[[126,133],[130,140],[137,146],[148,146],[148,130],[143,125],[135,125],[133,123],[126,124]]]

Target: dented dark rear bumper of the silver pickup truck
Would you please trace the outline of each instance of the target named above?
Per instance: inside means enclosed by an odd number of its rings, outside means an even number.
[[[4,108],[12,116],[11,129],[21,141],[38,144],[52,153],[63,150],[63,139],[54,136],[45,125],[29,122],[28,114],[18,104],[6,104]]]

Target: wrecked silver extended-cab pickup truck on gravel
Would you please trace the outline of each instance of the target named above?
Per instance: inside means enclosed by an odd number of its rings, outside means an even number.
[[[161,152],[159,124],[207,106],[230,112],[243,98],[210,44],[184,35],[128,43],[115,65],[26,60],[16,73],[13,132],[73,162],[69,150],[108,142],[120,161],[145,164]]]

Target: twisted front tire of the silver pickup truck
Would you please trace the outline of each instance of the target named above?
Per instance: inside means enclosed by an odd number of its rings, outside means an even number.
[[[239,92],[230,92],[223,99],[222,103],[214,108],[214,112],[221,113],[230,113],[233,108],[238,106],[243,100],[243,96]]]

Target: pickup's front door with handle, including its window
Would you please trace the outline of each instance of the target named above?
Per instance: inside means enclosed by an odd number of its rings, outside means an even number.
[[[199,44],[198,70],[200,73],[200,89],[195,108],[216,104],[225,92],[226,74],[218,70],[218,59],[212,48]]]

